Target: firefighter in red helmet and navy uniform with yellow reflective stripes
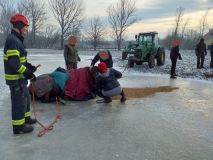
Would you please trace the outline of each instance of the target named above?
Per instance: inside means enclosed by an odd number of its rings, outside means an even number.
[[[36,67],[27,62],[27,51],[23,44],[29,21],[26,16],[15,14],[10,18],[10,23],[13,28],[4,46],[4,70],[11,94],[13,133],[28,133],[33,131],[30,124],[36,123],[30,117],[30,94],[27,88],[27,79],[36,78],[33,74]]]

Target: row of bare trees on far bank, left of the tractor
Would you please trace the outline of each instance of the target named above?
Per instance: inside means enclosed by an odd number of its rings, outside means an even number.
[[[89,19],[85,25],[84,10],[82,0],[21,0],[17,4],[13,0],[0,0],[0,45],[3,46],[10,32],[10,16],[19,12],[31,23],[26,38],[28,47],[62,49],[68,36],[75,35],[82,42],[80,46],[90,45],[96,50],[99,45],[106,44],[104,37],[109,33],[99,16]],[[113,47],[121,49],[126,29],[136,22],[135,11],[134,0],[118,0],[108,7],[111,36],[117,45]],[[113,43],[108,42],[106,46],[110,47],[110,44]]]

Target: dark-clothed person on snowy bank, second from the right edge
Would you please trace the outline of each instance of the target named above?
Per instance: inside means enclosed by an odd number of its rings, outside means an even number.
[[[197,68],[204,68],[204,59],[207,55],[206,44],[204,43],[204,38],[200,39],[200,42],[196,45],[195,54],[197,56]]]

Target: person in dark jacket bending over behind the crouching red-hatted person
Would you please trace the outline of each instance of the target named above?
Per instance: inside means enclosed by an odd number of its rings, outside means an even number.
[[[94,66],[96,62],[104,62],[107,65],[107,68],[113,67],[112,55],[109,50],[98,52],[91,62],[91,66]]]

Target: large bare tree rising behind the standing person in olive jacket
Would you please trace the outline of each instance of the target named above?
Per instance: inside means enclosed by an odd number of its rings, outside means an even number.
[[[63,48],[64,38],[66,38],[67,33],[76,24],[80,24],[82,20],[82,3],[82,0],[49,0],[54,18],[61,27],[61,49]]]

